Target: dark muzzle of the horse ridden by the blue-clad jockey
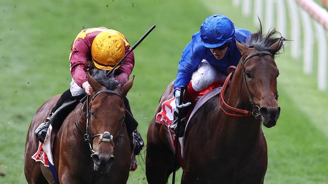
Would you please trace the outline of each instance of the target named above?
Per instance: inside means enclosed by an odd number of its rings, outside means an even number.
[[[280,107],[261,107],[260,113],[262,115],[261,120],[266,128],[271,128],[276,125],[280,115]]]

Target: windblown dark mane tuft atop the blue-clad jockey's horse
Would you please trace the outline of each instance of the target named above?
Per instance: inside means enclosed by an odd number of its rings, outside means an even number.
[[[256,33],[253,33],[251,35],[249,41],[244,43],[244,45],[250,48],[253,47],[258,51],[268,51],[272,54],[272,56],[281,54],[282,52],[280,52],[280,49],[284,48],[285,41],[287,41],[287,39],[284,38],[280,32],[276,31],[275,28],[271,28],[266,35],[263,35],[261,21],[258,21],[260,24],[260,28]],[[278,49],[269,49],[269,47],[272,44],[276,43],[278,40],[280,40],[280,45]]]

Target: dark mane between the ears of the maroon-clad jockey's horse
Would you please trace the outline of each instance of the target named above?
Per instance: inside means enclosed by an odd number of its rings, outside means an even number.
[[[114,90],[119,87],[120,82],[115,80],[113,75],[107,76],[106,70],[94,68],[92,77],[102,86],[109,90]]]

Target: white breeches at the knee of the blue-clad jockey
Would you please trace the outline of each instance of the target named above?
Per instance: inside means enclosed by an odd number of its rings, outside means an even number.
[[[226,75],[216,70],[205,59],[199,64],[197,71],[191,77],[191,85],[195,91],[201,91],[208,87],[214,81],[222,81],[226,79]]]

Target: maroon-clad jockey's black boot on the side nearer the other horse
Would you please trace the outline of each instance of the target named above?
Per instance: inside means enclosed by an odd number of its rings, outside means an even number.
[[[125,115],[125,120],[127,122],[128,133],[132,134],[132,136],[134,137],[134,141],[135,141],[134,154],[138,155],[141,149],[144,147],[144,142],[142,140],[140,133],[137,130],[138,122],[133,118],[131,107],[126,97],[124,98],[124,105],[125,105],[125,109],[127,110]]]

